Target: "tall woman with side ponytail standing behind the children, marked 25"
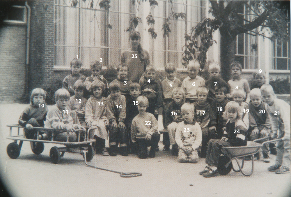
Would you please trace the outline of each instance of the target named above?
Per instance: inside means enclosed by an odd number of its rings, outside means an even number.
[[[141,47],[141,34],[133,31],[129,35],[131,47],[122,52],[120,63],[128,66],[128,79],[132,82],[143,84],[143,73],[148,64],[150,64],[150,56],[146,50]]]

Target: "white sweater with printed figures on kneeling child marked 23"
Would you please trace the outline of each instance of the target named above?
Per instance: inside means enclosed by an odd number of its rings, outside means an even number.
[[[193,124],[182,121],[178,124],[175,140],[179,147],[191,145],[193,150],[198,149],[202,142],[202,132],[198,122]]]

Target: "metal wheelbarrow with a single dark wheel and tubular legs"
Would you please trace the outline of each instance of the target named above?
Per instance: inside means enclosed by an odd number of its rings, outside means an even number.
[[[230,173],[231,169],[233,169],[233,171],[235,171],[235,172],[241,172],[245,176],[250,176],[253,173],[253,168],[254,168],[253,155],[258,153],[260,151],[260,148],[265,143],[271,143],[271,142],[276,142],[276,141],[282,140],[281,138],[279,138],[279,139],[266,141],[262,144],[257,143],[258,141],[266,140],[269,138],[270,137],[265,137],[265,138],[260,138],[260,139],[254,140],[254,141],[248,141],[246,146],[221,147],[222,154],[219,157],[219,165],[217,166],[219,174],[220,175],[227,175],[228,173]],[[251,169],[251,172],[249,172],[249,173],[246,173],[243,170],[245,156],[251,156],[251,160],[252,160],[252,169]],[[239,164],[239,161],[237,160],[238,158],[242,158],[241,164]],[[239,170],[236,170],[235,168],[233,168],[233,164],[232,164],[233,160],[235,160],[237,162]]]

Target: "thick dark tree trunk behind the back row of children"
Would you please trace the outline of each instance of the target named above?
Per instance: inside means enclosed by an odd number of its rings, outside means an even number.
[[[235,40],[228,35],[220,38],[221,77],[228,82],[231,78],[230,64],[235,60]]]

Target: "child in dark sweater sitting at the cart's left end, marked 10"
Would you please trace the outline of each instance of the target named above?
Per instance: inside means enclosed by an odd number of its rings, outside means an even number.
[[[30,96],[30,105],[22,112],[18,123],[24,126],[24,135],[28,139],[36,139],[37,130],[33,127],[44,127],[48,108],[45,104],[46,93],[41,88],[33,89]],[[40,133],[41,134],[41,133]],[[40,136],[43,139],[46,134]]]

